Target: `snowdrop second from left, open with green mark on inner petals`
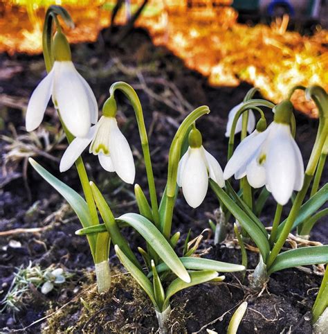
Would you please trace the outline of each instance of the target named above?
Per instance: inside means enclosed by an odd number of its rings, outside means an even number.
[[[136,168],[134,157],[127,139],[118,128],[116,102],[109,98],[102,109],[102,117],[93,125],[84,138],[75,138],[64,152],[60,161],[60,171],[65,172],[80,157],[91,143],[89,152],[98,155],[100,165],[108,172],[117,175],[129,184],[134,183]]]

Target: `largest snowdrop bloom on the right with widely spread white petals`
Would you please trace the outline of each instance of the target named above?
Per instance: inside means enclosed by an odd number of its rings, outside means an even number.
[[[257,123],[257,129],[237,146],[228,161],[224,179],[234,174],[236,179],[246,176],[253,188],[265,185],[281,205],[289,201],[294,190],[300,191],[304,165],[291,135],[292,110],[291,102],[285,100],[275,107],[274,121],[266,130],[261,123],[264,120]]]

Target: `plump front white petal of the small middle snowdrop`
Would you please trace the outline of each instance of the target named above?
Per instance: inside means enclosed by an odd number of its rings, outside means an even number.
[[[199,148],[190,149],[182,175],[182,191],[192,208],[197,208],[203,202],[208,191],[208,170]]]

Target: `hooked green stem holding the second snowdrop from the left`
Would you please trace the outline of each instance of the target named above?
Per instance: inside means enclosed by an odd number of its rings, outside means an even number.
[[[136,114],[136,121],[138,123],[141,147],[143,149],[143,158],[145,160],[145,168],[146,168],[146,174],[147,174],[147,180],[148,180],[150,202],[152,204],[154,224],[156,225],[156,227],[159,228],[160,222],[159,222],[159,214],[158,214],[156,186],[155,186],[155,180],[154,180],[154,173],[152,169],[152,159],[150,157],[149,143],[148,143],[147,131],[145,127],[145,120],[143,118],[143,107],[141,107],[141,103],[138,98],[138,95],[136,94],[136,91],[126,82],[120,81],[120,82],[115,82],[113,83],[113,85],[111,85],[111,87],[109,88],[109,94],[111,94],[113,98],[114,98],[116,89],[122,91],[122,93],[125,94],[125,96],[127,96]]]

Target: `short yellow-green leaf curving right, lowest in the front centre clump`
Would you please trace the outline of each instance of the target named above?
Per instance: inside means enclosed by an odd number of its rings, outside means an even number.
[[[201,270],[200,272],[190,272],[190,283],[186,283],[181,279],[174,279],[172,283],[167,287],[166,298],[163,305],[163,309],[167,308],[170,304],[170,298],[183,289],[190,288],[190,286],[206,283],[215,279],[219,274],[214,270]]]

